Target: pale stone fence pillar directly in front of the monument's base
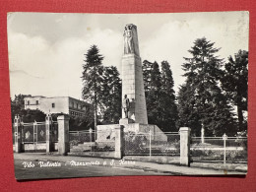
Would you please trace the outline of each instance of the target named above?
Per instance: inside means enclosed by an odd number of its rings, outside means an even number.
[[[115,159],[122,159],[124,155],[124,126],[115,127]]]

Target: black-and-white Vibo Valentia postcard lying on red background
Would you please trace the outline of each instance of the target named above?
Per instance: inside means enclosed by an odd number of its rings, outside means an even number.
[[[16,179],[246,175],[248,12],[7,25]]]

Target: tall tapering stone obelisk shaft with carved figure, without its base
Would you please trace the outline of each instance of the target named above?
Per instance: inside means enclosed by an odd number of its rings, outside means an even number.
[[[125,95],[130,100],[128,118],[135,123],[148,124],[138,33],[133,24],[126,25],[124,30],[122,98]],[[122,118],[125,119],[123,110]]]

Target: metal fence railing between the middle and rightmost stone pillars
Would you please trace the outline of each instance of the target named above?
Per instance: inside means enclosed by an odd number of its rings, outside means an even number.
[[[162,134],[166,137],[162,137]],[[178,156],[180,135],[178,132],[125,132],[125,155]]]

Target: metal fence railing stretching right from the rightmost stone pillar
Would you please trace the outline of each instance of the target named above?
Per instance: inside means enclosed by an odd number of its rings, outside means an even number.
[[[190,152],[193,161],[246,162],[247,138],[192,137]]]

